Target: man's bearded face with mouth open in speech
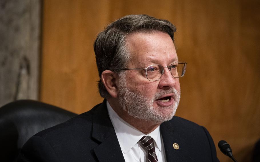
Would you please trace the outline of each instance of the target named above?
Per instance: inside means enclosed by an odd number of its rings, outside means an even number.
[[[177,62],[171,37],[162,32],[132,33],[127,37],[132,60],[127,68],[147,68],[153,64],[163,67]],[[163,122],[170,120],[180,99],[178,78],[173,78],[165,68],[157,81],[149,81],[145,70],[126,70],[118,83],[119,104],[134,118]]]

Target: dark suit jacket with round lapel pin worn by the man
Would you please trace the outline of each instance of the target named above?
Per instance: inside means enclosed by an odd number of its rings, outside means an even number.
[[[218,161],[209,132],[191,121],[173,117],[160,126],[167,161]],[[179,149],[173,148],[179,144]],[[31,137],[18,161],[125,161],[106,101],[71,120]]]

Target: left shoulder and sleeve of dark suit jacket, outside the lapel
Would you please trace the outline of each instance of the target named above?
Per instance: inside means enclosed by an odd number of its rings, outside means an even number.
[[[99,104],[88,112],[35,134],[23,146],[19,159],[21,161],[41,161],[42,159],[45,161],[83,161],[84,159],[93,161],[94,157],[89,150],[98,145],[91,137],[93,116],[97,114],[96,109],[105,111],[105,107]]]

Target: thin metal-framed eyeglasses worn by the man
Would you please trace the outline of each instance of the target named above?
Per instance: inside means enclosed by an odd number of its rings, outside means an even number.
[[[156,81],[161,78],[164,72],[164,68],[168,68],[171,72],[173,78],[180,78],[184,76],[186,71],[186,64],[187,62],[179,61],[173,62],[170,66],[163,67],[162,65],[150,65],[147,68],[135,68],[135,69],[128,69],[123,68],[121,70],[145,70],[146,77],[150,81]]]

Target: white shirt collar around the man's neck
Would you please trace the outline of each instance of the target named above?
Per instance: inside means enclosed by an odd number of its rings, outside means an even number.
[[[108,102],[107,110],[109,118],[114,126],[119,145],[123,153],[127,153],[145,134],[121,119]],[[153,137],[155,147],[161,151],[160,126],[147,135]]]

